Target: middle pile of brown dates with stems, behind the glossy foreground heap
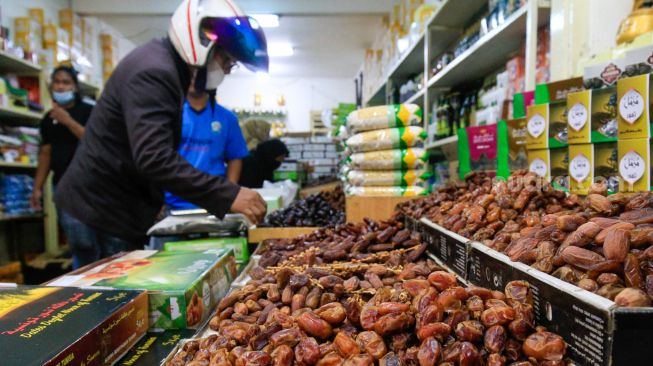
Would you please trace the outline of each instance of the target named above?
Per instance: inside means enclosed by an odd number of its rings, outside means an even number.
[[[426,250],[417,232],[404,228],[403,221],[347,223],[322,228],[292,239],[270,239],[261,244],[261,267],[313,265],[336,261],[377,261],[390,263],[416,261]]]

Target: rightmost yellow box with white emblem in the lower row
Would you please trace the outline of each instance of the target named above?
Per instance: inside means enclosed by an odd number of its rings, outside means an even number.
[[[619,191],[640,192],[653,190],[650,139],[619,140]]]

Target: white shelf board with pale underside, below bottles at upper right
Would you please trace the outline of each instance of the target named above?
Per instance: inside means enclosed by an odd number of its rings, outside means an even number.
[[[539,8],[538,23],[540,25],[548,23],[549,13],[549,8]],[[427,83],[428,88],[433,88],[436,91],[446,90],[483,78],[500,68],[511,53],[524,43],[527,15],[527,6],[517,10],[504,24],[483,36],[432,77]]]

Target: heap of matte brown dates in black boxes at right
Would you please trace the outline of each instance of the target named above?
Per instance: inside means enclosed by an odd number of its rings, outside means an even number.
[[[591,192],[566,195],[532,173],[498,182],[472,173],[465,182],[400,204],[397,217],[427,217],[611,300],[637,289],[618,304],[649,306],[643,304],[653,301],[653,193],[606,197],[598,184]]]

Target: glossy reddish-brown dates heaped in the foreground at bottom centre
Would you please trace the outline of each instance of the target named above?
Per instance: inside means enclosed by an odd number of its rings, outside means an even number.
[[[167,366],[565,364],[565,341],[534,323],[528,283],[464,288],[434,270],[365,289],[340,265],[319,278],[268,270],[225,297],[215,334],[185,342]]]

